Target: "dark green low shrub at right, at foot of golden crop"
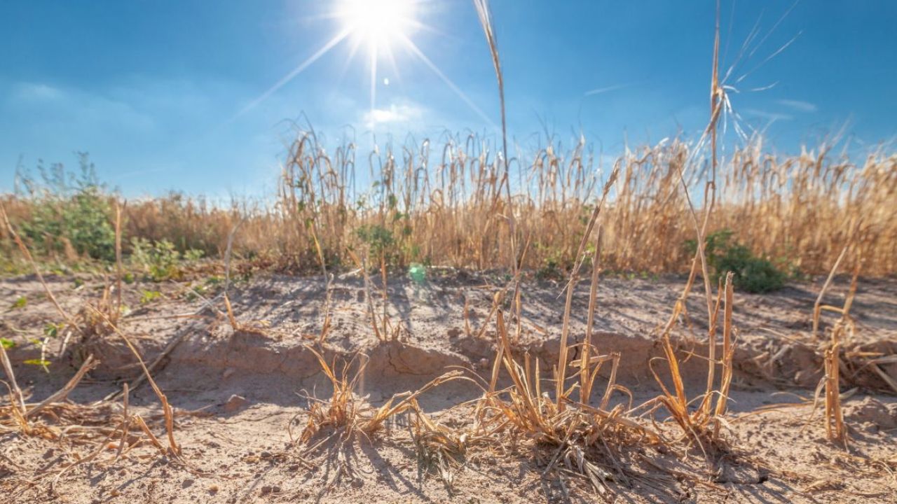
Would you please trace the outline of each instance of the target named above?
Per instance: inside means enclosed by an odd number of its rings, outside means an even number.
[[[753,256],[751,250],[732,239],[732,230],[718,230],[704,240],[704,254],[713,282],[727,272],[732,272],[736,288],[748,292],[778,291],[785,286],[787,275],[779,271],[768,259]],[[693,255],[697,241],[685,242]]]

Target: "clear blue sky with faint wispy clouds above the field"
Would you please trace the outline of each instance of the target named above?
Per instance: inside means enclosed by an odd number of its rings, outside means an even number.
[[[897,2],[722,4],[724,70],[759,27],[753,56],[733,74],[750,72],[732,100],[743,124],[766,128],[779,152],[845,125],[858,148],[897,135]],[[4,1],[0,191],[12,190],[20,160],[74,166],[74,152],[86,151],[127,196],[265,195],[289,141],[286,121],[303,115],[330,145],[343,135],[363,147],[372,135],[401,143],[447,128],[494,132],[492,62],[467,0],[414,4],[425,27],[406,37],[444,79],[389,38],[396,65],[379,52],[372,111],[369,47],[353,32],[258,100],[345,28],[330,15],[340,5]],[[695,135],[708,115],[714,15],[710,0],[492,0],[509,135],[527,152],[545,132],[564,143],[581,132],[609,155],[627,140]]]

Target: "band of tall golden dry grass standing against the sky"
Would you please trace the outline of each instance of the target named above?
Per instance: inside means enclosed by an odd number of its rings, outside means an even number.
[[[701,152],[692,149],[673,140],[615,161],[619,178],[605,208],[605,269],[687,270],[684,242],[694,238],[694,226],[679,173],[692,194],[711,177],[701,170]],[[241,222],[235,256],[291,271],[318,271],[321,256],[327,265],[351,265],[349,252],[365,247],[380,248],[394,264],[502,268],[516,255],[526,268],[569,269],[597,188],[613,167],[601,166],[583,140],[567,149],[545,145],[510,161],[508,198],[501,195],[501,155],[476,135],[361,154],[353,143],[328,152],[312,132],[302,132],[271,200],[216,205],[174,195],[130,201],[123,232],[126,240],[169,239],[179,248],[223,256]],[[717,172],[709,231],[733,230],[756,255],[824,274],[858,225],[864,274],[897,272],[897,154],[870,152],[852,161],[823,144],[779,156],[757,139],[720,160]],[[36,204],[4,196],[13,222],[27,220]],[[513,228],[507,225],[510,204]],[[14,253],[8,235],[0,241]],[[516,252],[515,244],[521,244]]]

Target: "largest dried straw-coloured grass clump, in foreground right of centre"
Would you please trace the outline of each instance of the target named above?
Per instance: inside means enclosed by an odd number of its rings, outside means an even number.
[[[607,482],[629,484],[631,479],[643,477],[640,470],[634,469],[642,465],[643,448],[657,447],[664,441],[656,431],[630,418],[631,404],[616,404],[608,409],[614,390],[630,396],[631,393],[611,378],[599,407],[589,405],[588,396],[580,395],[579,401],[573,399],[579,384],[563,389],[560,396],[552,398],[542,389],[538,361],[534,367],[528,354],[523,364],[512,357],[501,311],[496,318],[496,329],[501,345],[493,364],[490,389],[477,404],[477,431],[492,439],[495,446],[507,448],[522,444],[541,451],[548,460],[544,473],[563,465],[573,474],[586,477],[601,493],[610,491]],[[613,377],[618,359],[596,352],[574,378],[582,377],[583,389],[590,390],[606,361],[614,362]],[[495,390],[502,368],[512,385]]]

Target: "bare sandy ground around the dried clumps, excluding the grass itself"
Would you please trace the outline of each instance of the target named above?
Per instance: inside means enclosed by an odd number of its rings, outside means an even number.
[[[102,291],[95,278],[48,281],[73,313],[87,301],[96,302]],[[512,443],[472,444],[452,465],[448,485],[431,465],[422,464],[405,416],[372,439],[344,446],[325,442],[309,452],[292,442],[291,433],[295,437],[307,420],[309,396],[326,399],[332,392],[309,347],[337,363],[366,355],[357,392],[373,406],[422,387],[446,369],[488,377],[496,335],[494,323],[485,321],[502,282],[501,275],[432,271],[427,282],[416,284],[394,275],[387,290],[388,341],[379,341],[367,313],[364,282],[356,276],[337,278],[330,288],[331,322],[323,344],[318,336],[327,296],[320,278],[259,275],[235,282],[230,298],[243,327],[239,331],[219,313],[224,309],[220,284],[126,285],[129,312],[122,331],[135,340],[145,361],[152,363],[164,352],[153,374],[175,409],[183,456],[174,460],[145,443],[116,459],[118,441],[102,444],[122,419],[122,400],[98,401],[140,373],[120,338],[83,342],[73,337],[63,352],[65,335],[57,335],[45,348],[49,373],[25,364],[40,358],[44,329],[60,317],[35,278],[4,280],[0,336],[15,343],[9,356],[29,404],[62,387],[87,354],[101,364],[69,395],[69,403],[39,415],[39,424],[48,426],[52,436],[23,433],[4,419],[0,502],[897,502],[897,399],[882,378],[882,373],[897,378],[897,364],[882,363],[880,372],[867,364],[897,352],[894,279],[862,281],[851,311],[853,331],[842,370],[850,431],[846,450],[825,439],[821,411],[811,418],[826,329],[837,317],[825,315],[820,335],[811,335],[821,279],[790,284],[774,294],[736,292],[736,377],[725,430],[731,448],[708,456],[696,448],[675,453],[646,448],[641,455],[664,470],[649,469],[644,480],[609,482],[611,491],[604,496],[576,474],[545,473],[550,450]],[[683,283],[679,277],[601,280],[590,341],[602,352],[622,353],[617,381],[631,389],[636,404],[659,393],[649,364],[662,354],[658,326],[669,317]],[[842,304],[847,287],[848,279],[838,279],[826,302]],[[142,303],[145,291],[161,296]],[[560,346],[562,284],[531,280],[522,292],[515,352],[518,357],[528,352],[541,369],[552,369]],[[382,314],[379,279],[372,293],[373,306]],[[13,308],[22,296],[27,304]],[[205,300],[212,300],[214,308]],[[570,337],[576,342],[585,334],[587,306],[588,284],[582,283],[571,309]],[[707,351],[703,306],[700,291],[693,293],[691,317],[675,326],[690,397],[701,393],[706,380],[706,361],[700,357]],[[666,370],[656,362],[655,367]],[[553,387],[548,378],[545,388]],[[474,385],[455,381],[419,401],[435,421],[464,428],[472,417],[466,402],[480,395]],[[129,402],[130,412],[141,414],[164,439],[152,389],[135,388]],[[657,420],[664,419],[658,415]],[[62,473],[91,453],[96,456]]]

